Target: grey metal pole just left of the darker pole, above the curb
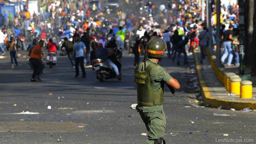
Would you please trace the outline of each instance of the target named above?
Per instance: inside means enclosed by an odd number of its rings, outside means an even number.
[[[202,4],[204,4],[204,1],[202,1]],[[212,0],[206,0],[206,11],[207,11],[207,28],[208,32],[210,33],[210,40],[209,40],[209,48],[212,48],[212,25],[211,25],[211,17],[212,17]]]

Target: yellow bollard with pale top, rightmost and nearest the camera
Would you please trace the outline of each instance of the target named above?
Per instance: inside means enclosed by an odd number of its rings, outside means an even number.
[[[252,82],[248,80],[241,81],[241,99],[251,99],[252,98]]]

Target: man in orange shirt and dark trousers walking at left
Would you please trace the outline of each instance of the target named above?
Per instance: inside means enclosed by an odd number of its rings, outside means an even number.
[[[36,82],[36,80],[41,81],[39,78],[39,75],[41,71],[43,70],[42,62],[41,62],[41,56],[42,56],[42,46],[44,45],[44,41],[40,40],[37,45],[34,46],[34,48],[31,50],[30,54],[30,62],[33,66],[33,74],[30,79],[31,82]]]

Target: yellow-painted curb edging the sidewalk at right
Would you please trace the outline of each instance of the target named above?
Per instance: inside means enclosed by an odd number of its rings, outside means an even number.
[[[209,51],[207,51],[207,55],[209,56]],[[209,91],[209,88],[206,86],[204,82],[204,78],[202,76],[202,68],[199,65],[198,57],[197,57],[197,50],[193,50],[193,56],[194,56],[194,61],[196,65],[196,75],[198,78],[199,86],[202,91],[203,99],[204,99],[204,104],[209,105],[211,107],[218,108],[219,106],[222,106],[224,109],[230,109],[230,108],[235,108],[236,110],[241,110],[246,107],[249,107],[251,109],[256,109],[256,102],[249,102],[249,101],[239,101],[239,100],[226,100],[226,99],[219,99],[219,98],[214,98],[211,95],[211,92]],[[209,57],[208,57],[209,59]],[[210,61],[211,62],[211,61]],[[212,63],[212,62],[211,62]]]

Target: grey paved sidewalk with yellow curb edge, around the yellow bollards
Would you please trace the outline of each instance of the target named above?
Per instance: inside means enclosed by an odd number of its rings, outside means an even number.
[[[207,51],[209,54],[209,51]],[[205,105],[210,107],[222,107],[225,109],[235,108],[236,110],[249,107],[256,109],[256,77],[252,77],[252,99],[241,99],[238,96],[227,96],[229,93],[226,88],[220,83],[217,76],[213,72],[209,58],[206,56],[203,64],[200,64],[200,49],[195,49],[193,52],[198,82],[202,91]],[[229,67],[229,70],[238,74],[238,67]]]

